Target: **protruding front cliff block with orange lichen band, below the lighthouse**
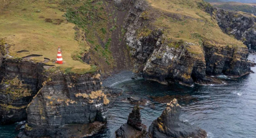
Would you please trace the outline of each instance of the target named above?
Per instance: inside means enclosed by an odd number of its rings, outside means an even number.
[[[27,108],[25,135],[84,137],[99,131],[105,124],[105,105],[109,103],[100,90],[100,75],[48,73],[48,80]],[[76,127],[79,133],[72,131]]]

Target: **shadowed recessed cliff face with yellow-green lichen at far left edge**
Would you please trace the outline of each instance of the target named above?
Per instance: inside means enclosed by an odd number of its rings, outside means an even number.
[[[27,118],[27,105],[42,86],[43,64],[3,59],[0,72],[0,122],[22,121]]]

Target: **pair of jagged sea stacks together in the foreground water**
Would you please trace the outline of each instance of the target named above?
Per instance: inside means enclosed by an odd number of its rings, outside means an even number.
[[[206,138],[207,133],[189,122],[181,121],[181,106],[176,99],[167,103],[162,114],[147,128],[141,122],[140,107],[135,105],[127,123],[116,130],[116,138]]]

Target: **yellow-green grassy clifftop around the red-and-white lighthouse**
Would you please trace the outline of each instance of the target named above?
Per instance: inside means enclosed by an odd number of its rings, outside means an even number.
[[[72,55],[89,46],[76,41],[74,24],[68,23],[59,10],[62,5],[54,0],[0,0],[0,38],[11,44],[10,55],[24,57],[30,54],[40,54],[32,60],[44,61],[44,57],[55,59],[57,48],[63,50],[66,62],[61,67],[91,71],[91,66],[72,59]],[[39,12],[40,10],[40,12]],[[45,22],[46,18],[63,20],[60,25]],[[29,52],[16,53],[20,50]],[[48,63],[53,64],[53,63]]]

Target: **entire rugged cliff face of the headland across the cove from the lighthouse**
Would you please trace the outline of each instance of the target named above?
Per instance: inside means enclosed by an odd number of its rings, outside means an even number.
[[[178,21],[182,21],[182,18],[197,19],[160,12],[144,0],[134,0],[129,4],[123,4],[125,0],[115,2],[119,9],[129,11],[123,25],[127,30],[125,40],[135,69],[143,72],[144,78],[163,84],[180,82],[192,85],[193,82],[212,83],[211,79],[206,79],[206,75],[225,73],[230,76],[241,76],[250,71],[246,59],[248,49],[245,46],[220,46],[217,42],[200,35],[199,43],[170,39],[166,36],[165,29],[150,24],[155,22],[156,18],[160,18],[160,15]],[[211,11],[205,8],[205,11],[207,10]]]

